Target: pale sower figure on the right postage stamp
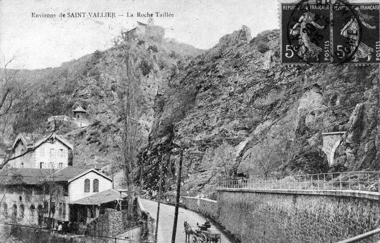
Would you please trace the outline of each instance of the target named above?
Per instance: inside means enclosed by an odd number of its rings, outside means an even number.
[[[350,43],[353,42],[351,46],[351,53],[355,52],[355,49],[359,43],[360,34],[359,34],[359,23],[358,18],[361,24],[368,29],[375,29],[376,26],[370,26],[366,23],[373,18],[373,16],[369,16],[366,14],[360,13],[360,9],[356,7],[354,9],[354,15],[351,17],[350,21],[346,24],[343,29],[340,31],[340,35],[343,35],[350,39]],[[354,54],[354,60],[352,62],[358,62],[359,58],[367,58],[367,62],[371,60],[371,52],[373,52],[373,48],[368,47],[363,43],[359,43],[359,47]]]

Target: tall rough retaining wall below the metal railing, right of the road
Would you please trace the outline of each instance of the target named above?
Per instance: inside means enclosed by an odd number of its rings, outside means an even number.
[[[241,242],[336,242],[380,226],[378,200],[358,197],[219,191],[218,208]]]

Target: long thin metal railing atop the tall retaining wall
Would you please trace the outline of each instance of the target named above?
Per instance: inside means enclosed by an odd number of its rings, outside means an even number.
[[[380,193],[380,172],[341,172],[218,181],[217,189],[357,190]]]

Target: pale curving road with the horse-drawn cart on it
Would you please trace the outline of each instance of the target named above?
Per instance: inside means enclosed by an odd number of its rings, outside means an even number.
[[[149,214],[156,218],[157,216],[157,203],[155,201],[150,201],[146,199],[141,199],[141,203],[144,206],[145,210]],[[192,227],[197,228],[197,222],[203,224],[206,221],[206,218],[189,210],[179,208],[178,211],[178,223],[177,231],[175,235],[176,243],[185,242],[185,233],[183,222],[186,220]],[[170,243],[172,239],[172,231],[174,224],[174,206],[169,206],[165,204],[160,204],[160,219],[159,219],[159,229],[158,229],[158,243]],[[214,225],[211,226],[211,229],[215,232],[220,233]],[[232,243],[227,239],[225,235],[221,235],[222,243]]]

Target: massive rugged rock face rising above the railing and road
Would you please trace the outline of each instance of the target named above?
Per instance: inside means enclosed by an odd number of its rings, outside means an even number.
[[[208,194],[218,180],[262,175],[256,155],[265,144],[284,158],[268,176],[378,169],[378,68],[289,67],[279,63],[278,30],[249,39],[245,26],[223,36],[159,89],[149,146],[187,148],[183,188]],[[347,132],[331,167],[325,132]]]

